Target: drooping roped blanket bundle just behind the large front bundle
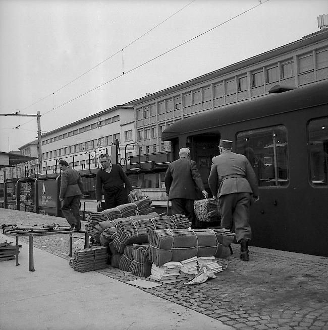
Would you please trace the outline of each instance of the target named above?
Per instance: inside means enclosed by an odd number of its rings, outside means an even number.
[[[124,247],[128,244],[140,244],[148,242],[150,230],[189,228],[190,222],[182,214],[173,216],[156,217],[152,219],[122,219],[118,223],[117,235],[113,239],[119,253],[122,253]]]

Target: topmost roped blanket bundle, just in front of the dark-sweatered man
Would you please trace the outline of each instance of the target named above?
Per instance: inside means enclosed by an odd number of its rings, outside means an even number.
[[[154,212],[154,208],[150,207],[151,200],[149,198],[135,201],[134,203],[122,204],[116,208],[107,209],[101,212],[91,212],[85,219],[85,230],[94,238],[99,238],[99,230],[95,229],[96,224],[103,221],[113,221],[119,218],[131,217],[134,215],[144,215]],[[97,240],[97,239],[96,239]],[[99,240],[98,240],[99,241]]]

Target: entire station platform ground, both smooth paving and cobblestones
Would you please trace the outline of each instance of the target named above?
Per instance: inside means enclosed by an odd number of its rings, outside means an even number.
[[[51,222],[67,224],[0,209],[0,225]],[[20,266],[0,264],[0,328],[328,330],[327,257],[250,246],[250,261],[243,262],[233,244],[228,268],[215,279],[145,288],[111,267],[75,272],[65,235],[34,238],[35,272],[29,272],[27,242],[20,238]]]

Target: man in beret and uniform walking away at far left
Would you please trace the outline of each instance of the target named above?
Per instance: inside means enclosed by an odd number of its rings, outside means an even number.
[[[78,171],[68,166],[68,162],[60,160],[59,165],[63,171],[61,177],[61,190],[59,200],[62,202],[62,213],[70,229],[81,230],[80,200],[83,184]]]

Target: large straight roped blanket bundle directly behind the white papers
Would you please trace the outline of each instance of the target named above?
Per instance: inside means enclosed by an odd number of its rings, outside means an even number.
[[[169,261],[182,261],[194,256],[230,255],[229,244],[234,234],[220,229],[150,230],[148,259],[156,266]]]

